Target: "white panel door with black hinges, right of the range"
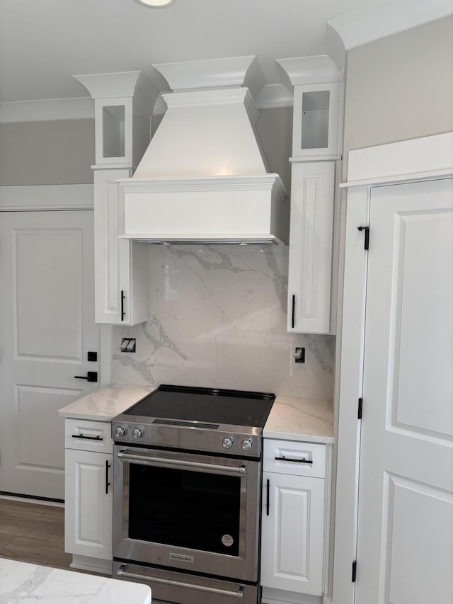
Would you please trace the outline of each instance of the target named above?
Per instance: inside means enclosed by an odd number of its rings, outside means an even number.
[[[372,190],[356,604],[453,602],[453,180]]]

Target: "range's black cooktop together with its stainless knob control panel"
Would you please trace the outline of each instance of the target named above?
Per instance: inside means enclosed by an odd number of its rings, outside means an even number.
[[[259,456],[275,394],[162,384],[112,422],[116,443]]]

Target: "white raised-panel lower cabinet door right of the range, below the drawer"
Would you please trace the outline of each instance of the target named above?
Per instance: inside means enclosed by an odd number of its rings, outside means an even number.
[[[261,584],[321,596],[324,481],[265,472],[265,489],[268,480],[269,515],[263,508]]]

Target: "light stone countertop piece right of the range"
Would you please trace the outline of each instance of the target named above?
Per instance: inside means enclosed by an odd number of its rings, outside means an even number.
[[[333,443],[330,401],[277,397],[263,430],[264,438]]]

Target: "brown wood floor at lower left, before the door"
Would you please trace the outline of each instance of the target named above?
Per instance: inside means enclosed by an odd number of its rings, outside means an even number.
[[[0,498],[0,557],[69,569],[64,508]]]

